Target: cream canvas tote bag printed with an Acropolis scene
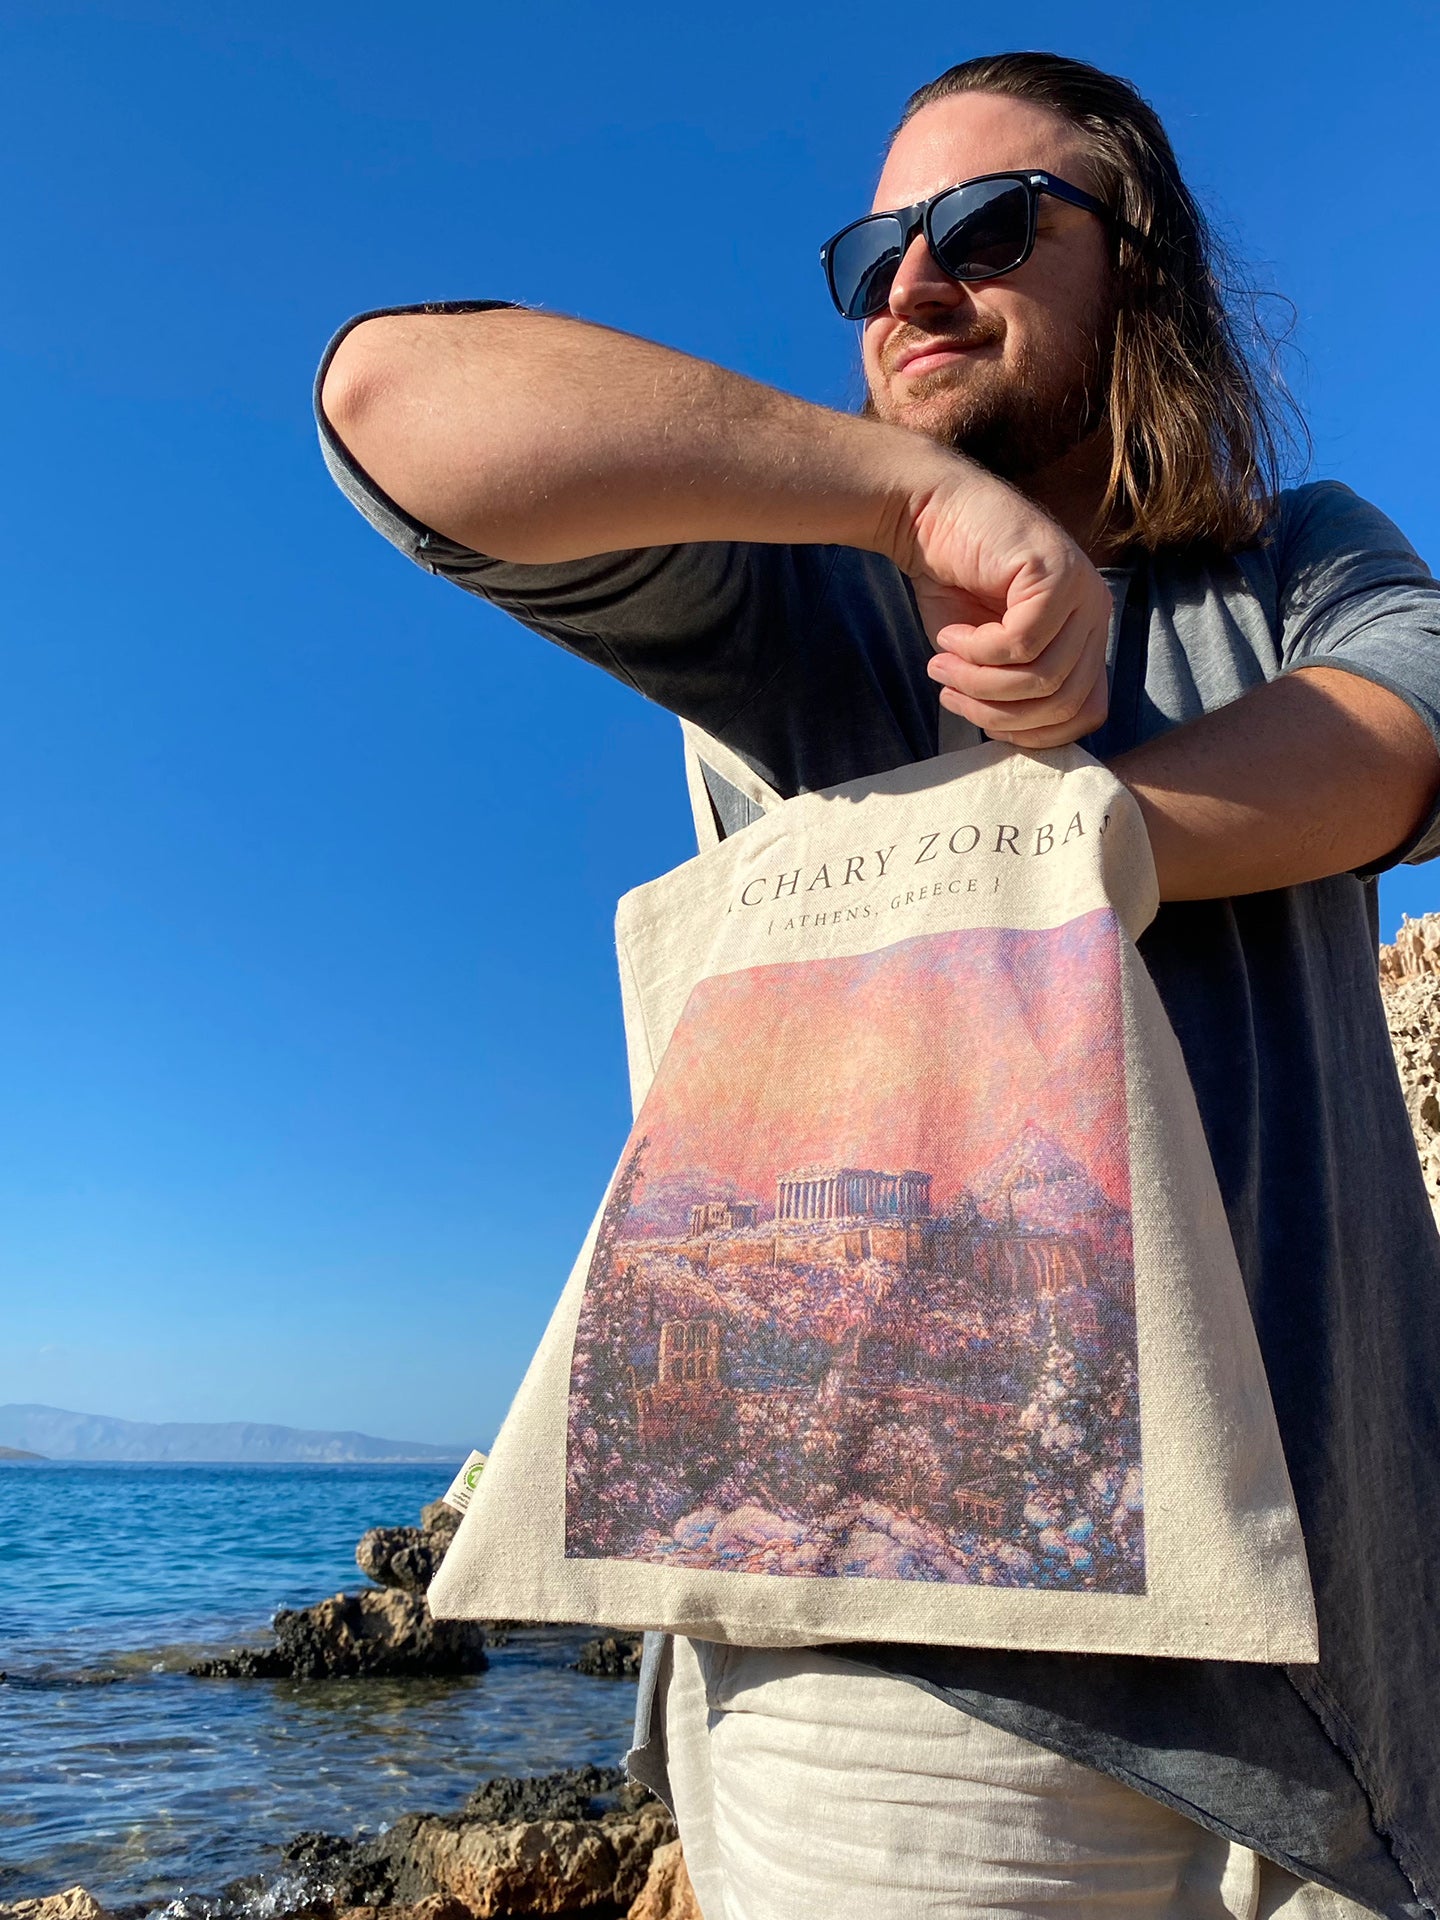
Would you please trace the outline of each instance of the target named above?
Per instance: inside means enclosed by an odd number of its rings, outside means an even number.
[[[620,902],[636,1125],[430,1588],[739,1645],[1313,1661],[1139,806],[987,743]]]

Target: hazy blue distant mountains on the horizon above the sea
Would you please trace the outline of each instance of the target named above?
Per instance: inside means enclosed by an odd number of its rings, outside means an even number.
[[[422,1440],[376,1440],[372,1434],[311,1432],[305,1427],[261,1427],[255,1421],[117,1421],[106,1413],[63,1407],[0,1407],[0,1459],[6,1452],[46,1459],[165,1459],[230,1465],[397,1465],[453,1461],[463,1446]]]

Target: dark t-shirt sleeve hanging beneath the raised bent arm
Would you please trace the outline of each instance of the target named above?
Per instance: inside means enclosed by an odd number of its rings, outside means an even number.
[[[378,313],[482,313],[505,301],[447,301]],[[524,626],[636,687],[716,737],[753,707],[824,599],[833,547],[689,541],[591,559],[516,564],[476,553],[390,499],[344,445],[321,405],[334,336],[315,378],[315,419],[342,493],[386,540],[430,574],[513,614]],[[758,768],[766,778],[772,772]]]

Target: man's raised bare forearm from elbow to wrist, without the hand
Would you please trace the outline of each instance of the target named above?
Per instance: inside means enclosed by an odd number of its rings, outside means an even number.
[[[378,486],[503,561],[682,540],[889,551],[966,463],[586,321],[386,315],[340,344],[326,419]]]

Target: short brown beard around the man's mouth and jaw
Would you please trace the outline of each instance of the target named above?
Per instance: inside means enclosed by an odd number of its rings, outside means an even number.
[[[995,324],[991,332],[972,328],[947,336],[902,326],[885,344],[885,363],[893,365],[914,346],[943,344],[947,338],[977,348],[998,342],[1002,328]],[[872,392],[862,411],[925,434],[1023,490],[1106,424],[1112,338],[1114,315],[1106,311],[1068,355],[1027,349],[1014,367],[998,361],[937,367],[912,382],[902,403],[891,399],[887,386],[879,397]],[[887,372],[889,365],[881,371]]]

